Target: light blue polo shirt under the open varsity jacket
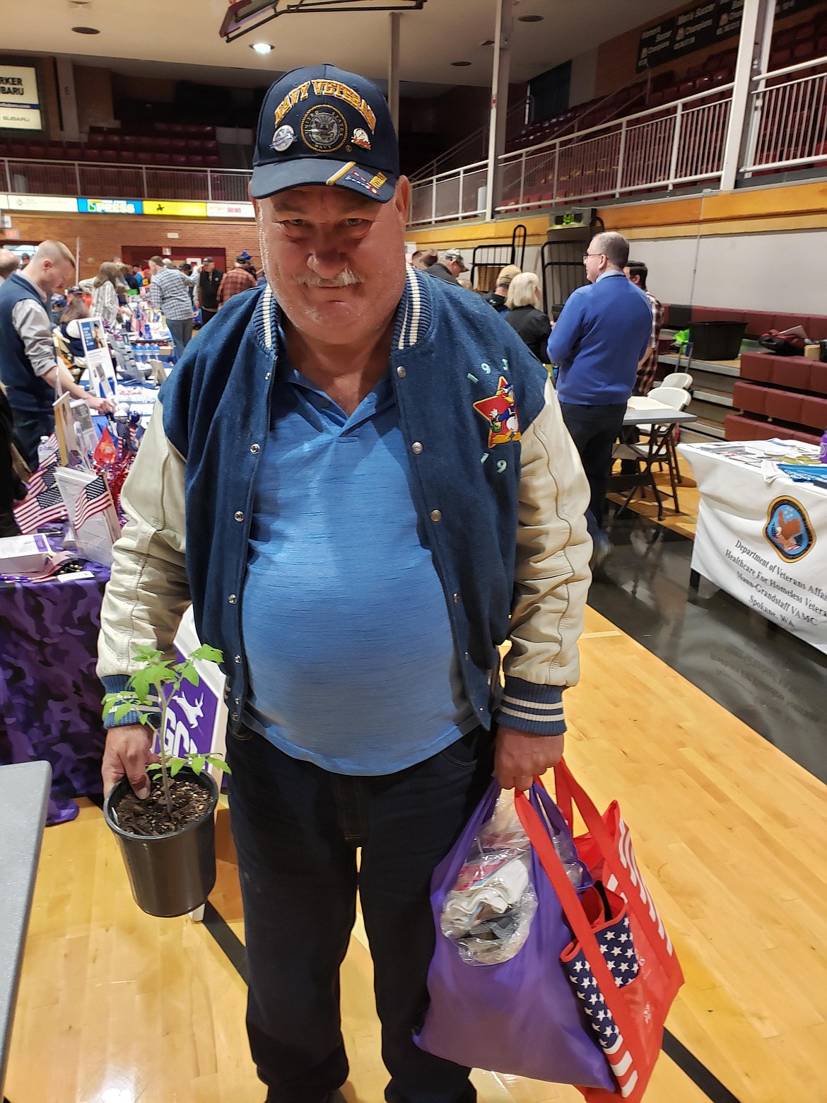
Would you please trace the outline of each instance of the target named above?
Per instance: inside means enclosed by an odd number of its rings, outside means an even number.
[[[241,602],[244,718],[334,773],[393,773],[476,721],[390,378],[347,417],[286,368],[271,408]]]

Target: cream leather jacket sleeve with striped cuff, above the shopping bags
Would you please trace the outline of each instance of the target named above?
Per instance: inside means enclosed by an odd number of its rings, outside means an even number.
[[[580,675],[578,639],[591,572],[589,484],[551,379],[523,433],[511,650],[500,724],[535,735],[565,731],[561,694]]]

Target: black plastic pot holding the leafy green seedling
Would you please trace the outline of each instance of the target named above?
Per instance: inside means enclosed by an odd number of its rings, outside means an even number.
[[[149,915],[185,915],[204,903],[215,885],[218,786],[208,773],[196,774],[186,767],[178,778],[208,790],[212,801],[201,820],[169,835],[133,835],[118,824],[118,804],[129,790],[126,778],[104,801],[104,816],[118,839],[132,897]]]

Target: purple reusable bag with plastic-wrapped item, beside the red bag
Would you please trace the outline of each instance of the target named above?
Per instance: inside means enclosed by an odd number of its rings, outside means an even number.
[[[593,1031],[560,964],[571,930],[534,853],[531,881],[537,911],[528,939],[511,961],[498,965],[464,962],[455,943],[440,930],[444,899],[498,795],[494,781],[453,849],[433,871],[431,909],[437,945],[428,970],[430,1006],[414,1040],[429,1053],[458,1064],[613,1091],[605,1057],[593,1041]],[[538,806],[534,786],[531,802]],[[551,801],[548,805],[544,804],[543,811],[552,828],[571,838],[557,805]]]

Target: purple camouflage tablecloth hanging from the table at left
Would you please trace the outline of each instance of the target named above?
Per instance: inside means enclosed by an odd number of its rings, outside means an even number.
[[[94,579],[0,583],[0,763],[51,763],[50,824],[74,820],[73,796],[101,793],[95,664],[109,569],[86,569]]]

